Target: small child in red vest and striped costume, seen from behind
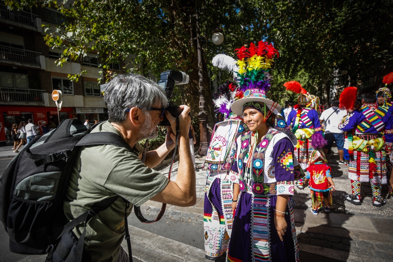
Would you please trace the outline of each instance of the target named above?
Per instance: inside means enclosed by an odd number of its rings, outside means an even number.
[[[309,183],[311,212],[318,215],[318,212],[325,207],[325,212],[329,213],[333,205],[332,190],[336,191],[330,174],[331,168],[327,166],[327,159],[321,149],[312,151],[309,163],[304,182]]]

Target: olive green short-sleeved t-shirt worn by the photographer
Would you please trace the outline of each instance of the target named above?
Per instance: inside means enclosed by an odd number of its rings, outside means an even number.
[[[98,125],[94,132],[121,134],[110,122]],[[136,144],[136,151],[141,145]],[[64,201],[64,213],[73,220],[93,204],[112,196],[121,196],[131,204],[140,206],[161,192],[168,178],[152,170],[138,159],[136,153],[114,145],[88,146],[77,154],[70,176],[70,185]],[[130,214],[130,205],[127,215]],[[86,226],[85,250],[92,261],[116,261],[123,241],[125,203],[119,197],[106,210],[94,216]],[[73,232],[79,237],[83,226]]]

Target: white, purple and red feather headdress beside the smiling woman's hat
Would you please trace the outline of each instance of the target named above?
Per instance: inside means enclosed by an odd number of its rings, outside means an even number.
[[[230,118],[232,113],[231,105],[235,100],[235,94],[237,91],[236,86],[234,83],[227,81],[219,87],[218,91],[218,93],[213,95],[213,97],[215,97],[215,99],[213,99],[213,103],[215,107],[217,107],[215,111],[223,114],[224,118]]]

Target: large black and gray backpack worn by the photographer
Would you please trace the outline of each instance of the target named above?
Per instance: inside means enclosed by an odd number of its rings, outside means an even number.
[[[80,120],[63,120],[50,133],[29,142],[7,166],[0,178],[0,220],[9,235],[11,252],[48,253],[47,261],[82,260],[85,231],[75,240],[75,247],[70,251],[72,254],[65,255],[67,259],[52,258],[51,254],[57,246],[61,246],[59,241],[63,235],[71,234],[71,229],[80,223],[86,225],[90,218],[109,207],[117,196],[95,203],[91,210],[67,223],[63,202],[75,153],[80,146],[102,144],[113,144],[133,152],[114,133],[89,132]],[[127,224],[125,230],[129,244]],[[132,254],[129,255],[132,259]]]

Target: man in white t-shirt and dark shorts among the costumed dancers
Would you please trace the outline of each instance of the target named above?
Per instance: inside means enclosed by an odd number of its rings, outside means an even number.
[[[327,145],[323,148],[325,154],[332,148],[333,142],[336,142],[338,149],[338,156],[340,161],[339,165],[345,164],[344,162],[344,132],[338,129],[338,125],[341,124],[343,117],[347,114],[347,111],[338,108],[339,101],[332,100],[331,107],[322,112],[320,116],[320,122],[322,127],[325,128],[325,139]]]

